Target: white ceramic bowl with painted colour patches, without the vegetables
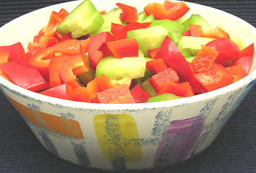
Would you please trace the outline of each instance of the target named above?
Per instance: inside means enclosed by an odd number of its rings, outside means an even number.
[[[0,29],[0,45],[24,47],[45,26],[53,10],[69,12],[81,1],[57,4],[14,19]],[[94,0],[109,10],[114,0]],[[120,1],[138,11],[149,1]],[[256,29],[242,19],[210,7],[187,3],[200,14],[254,43]],[[218,19],[218,20],[217,20]],[[31,25],[33,24],[33,25]],[[33,27],[31,27],[33,26]],[[254,58],[253,68],[256,66]],[[40,143],[51,153],[82,167],[131,171],[169,167],[199,154],[214,141],[223,125],[255,84],[256,71],[213,92],[166,102],[100,105],[47,97],[22,89],[0,77],[1,91],[20,112]]]

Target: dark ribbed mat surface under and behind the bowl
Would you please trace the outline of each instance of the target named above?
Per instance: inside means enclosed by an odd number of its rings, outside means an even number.
[[[22,14],[61,0],[0,1],[0,27]],[[256,27],[256,1],[192,1],[221,9]],[[0,92],[0,172],[90,172],[46,151]],[[202,154],[163,172],[256,172],[256,86],[216,141]],[[154,173],[155,173],[154,172]]]

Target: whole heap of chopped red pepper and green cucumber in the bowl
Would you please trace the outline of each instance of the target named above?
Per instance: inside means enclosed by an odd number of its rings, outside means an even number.
[[[17,86],[77,102],[127,104],[192,97],[252,71],[255,45],[184,1],[117,3],[99,12],[84,0],[51,12],[27,45],[0,46],[0,75]]]

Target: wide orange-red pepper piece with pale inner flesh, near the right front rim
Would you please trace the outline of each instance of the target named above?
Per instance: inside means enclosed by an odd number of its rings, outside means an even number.
[[[195,74],[195,77],[208,92],[227,86],[234,81],[234,76],[218,63],[213,63],[208,72]]]

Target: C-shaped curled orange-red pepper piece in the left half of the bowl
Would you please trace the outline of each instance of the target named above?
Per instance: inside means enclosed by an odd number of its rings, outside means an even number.
[[[61,80],[73,87],[82,86],[79,79],[77,79],[77,75],[86,71],[89,71],[88,63],[85,63],[82,56],[72,56],[61,64]]]

